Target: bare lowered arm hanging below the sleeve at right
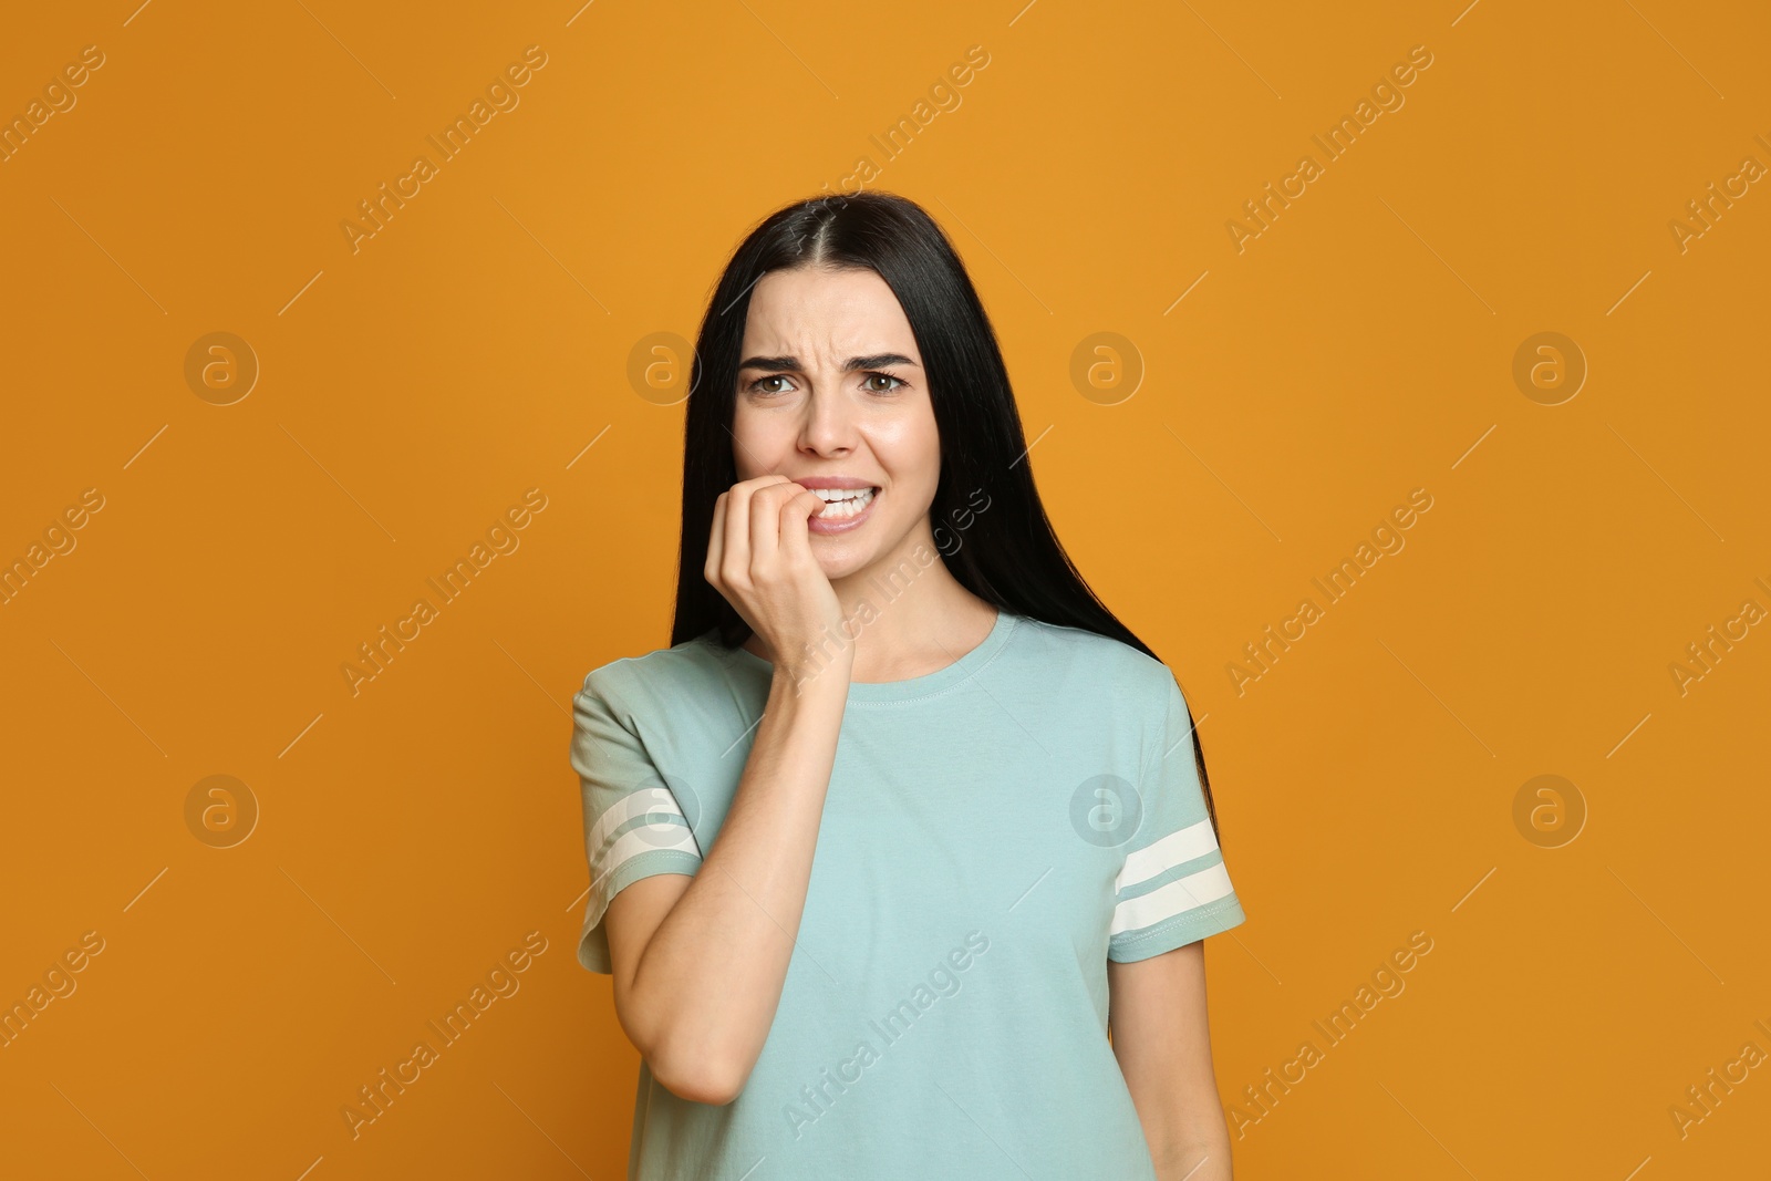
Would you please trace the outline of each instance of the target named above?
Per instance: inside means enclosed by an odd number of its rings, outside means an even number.
[[[1229,1128],[1211,1071],[1204,942],[1107,961],[1112,1052],[1160,1181],[1229,1181]]]

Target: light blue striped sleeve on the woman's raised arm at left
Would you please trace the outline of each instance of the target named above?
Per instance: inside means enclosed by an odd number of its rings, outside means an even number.
[[[613,972],[602,915],[622,889],[653,873],[694,875],[701,846],[682,806],[646,754],[632,721],[584,678],[572,698],[572,768],[584,795],[584,855],[590,896],[577,961]]]

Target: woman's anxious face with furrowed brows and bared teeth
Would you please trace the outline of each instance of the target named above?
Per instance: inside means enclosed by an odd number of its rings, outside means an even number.
[[[919,538],[933,547],[940,436],[910,320],[886,280],[770,271],[751,290],[739,365],[739,480],[779,473],[813,489],[827,478],[862,485],[859,512],[832,505],[808,522],[825,577],[896,561]]]

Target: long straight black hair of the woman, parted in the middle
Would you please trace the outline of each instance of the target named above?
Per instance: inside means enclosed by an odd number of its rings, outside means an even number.
[[[769,271],[808,266],[868,269],[898,296],[923,354],[928,398],[940,432],[940,480],[930,505],[942,522],[965,522],[965,540],[942,552],[953,577],[979,598],[1031,620],[1118,639],[1155,652],[1094,597],[1045,517],[1025,462],[1027,441],[1008,367],[965,264],[935,220],[894,193],[861,191],[793,202],[769,214],[731,255],[714,289],[694,345],[682,448],[682,545],[671,645],[708,630],[735,648],[751,627],[708,584],[707,542],[714,501],[739,482],[731,411],[751,289]],[[983,490],[988,512],[969,498]],[[946,551],[946,547],[942,547]],[[1217,827],[1204,753],[1194,731],[1194,765]]]

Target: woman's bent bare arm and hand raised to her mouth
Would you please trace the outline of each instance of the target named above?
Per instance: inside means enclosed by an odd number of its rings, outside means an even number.
[[[824,662],[841,606],[809,547],[822,508],[783,475],[714,501],[703,574],[774,653],[769,701],[694,876],[641,878],[604,915],[622,1029],[653,1078],[698,1103],[735,1100],[763,1052],[836,765],[855,648]]]

